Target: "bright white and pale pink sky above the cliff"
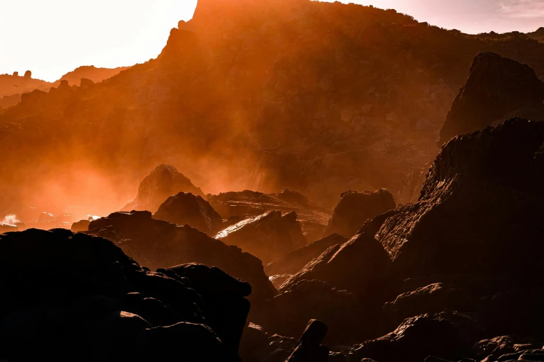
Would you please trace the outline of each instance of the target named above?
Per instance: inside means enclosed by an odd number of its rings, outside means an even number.
[[[236,0],[232,0],[236,1]],[[465,33],[534,31],[544,0],[352,0],[395,8]],[[351,1],[343,1],[351,2]],[[53,81],[81,65],[120,67],[155,58],[197,0],[0,0],[0,74]]]

